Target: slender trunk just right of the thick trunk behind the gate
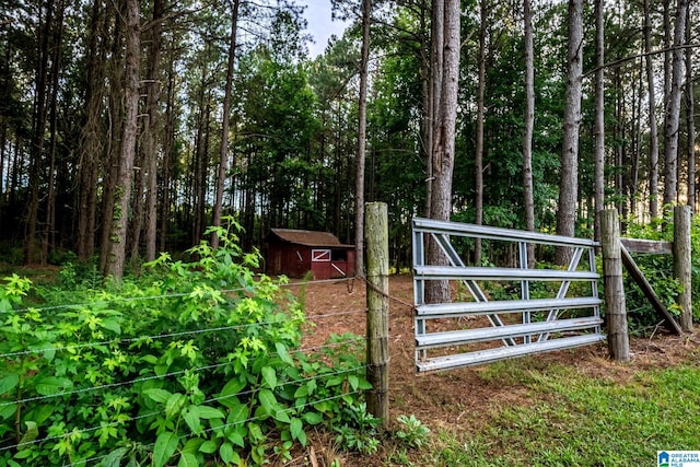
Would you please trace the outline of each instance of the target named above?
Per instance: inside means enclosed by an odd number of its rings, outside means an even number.
[[[488,27],[488,2],[489,0],[481,0],[479,2],[479,80],[477,85],[477,145],[474,156],[474,175],[475,175],[475,209],[477,225],[483,224],[483,119],[485,116],[485,103],[483,94],[486,90],[486,36]],[[474,260],[477,265],[481,264],[481,238],[475,240]]]

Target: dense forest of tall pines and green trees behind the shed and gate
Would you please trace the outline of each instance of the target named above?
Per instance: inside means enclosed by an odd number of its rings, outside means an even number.
[[[3,2],[0,258],[98,257],[115,273],[115,252],[185,250],[221,215],[241,223],[245,248],[261,247],[270,227],[352,243],[363,10],[360,0],[332,3],[349,27],[310,57],[310,25],[293,0]],[[433,3],[371,8],[363,199],[388,205],[399,266],[410,261],[409,221],[430,213],[440,176],[431,167]],[[686,110],[700,95],[697,2],[603,2],[600,107],[593,4],[583,2],[573,20],[567,2],[527,7],[532,45],[522,2],[460,2],[448,215],[592,236],[596,186],[604,206],[641,222],[666,212],[657,200],[695,203],[697,122]],[[581,110],[567,119],[572,27],[582,34]],[[575,153],[564,149],[564,121],[578,130]],[[562,174],[570,182],[561,184]],[[573,197],[562,198],[574,182]],[[561,199],[573,205],[558,220]]]

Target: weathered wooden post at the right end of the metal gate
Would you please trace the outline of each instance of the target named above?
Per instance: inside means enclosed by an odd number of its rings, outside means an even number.
[[[616,209],[600,211],[600,246],[605,280],[605,317],[608,352],[612,360],[630,360],[630,338],[627,329],[627,304],[622,282],[620,224]]]

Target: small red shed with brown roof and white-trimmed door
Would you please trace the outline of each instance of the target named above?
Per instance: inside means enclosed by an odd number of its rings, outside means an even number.
[[[271,229],[267,243],[267,273],[302,278],[308,271],[314,279],[353,276],[354,246],[342,245],[331,233]]]

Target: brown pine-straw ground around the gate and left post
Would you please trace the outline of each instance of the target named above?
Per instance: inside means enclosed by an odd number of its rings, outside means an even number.
[[[299,287],[292,291],[299,292]],[[532,390],[514,381],[494,381],[489,366],[464,367],[417,374],[413,351],[412,278],[392,277],[389,285],[389,405],[390,427],[400,415],[415,415],[432,432],[460,432],[466,435],[483,423],[489,407],[527,406]],[[365,285],[361,281],[312,282],[305,287],[307,318],[316,326],[304,347],[322,343],[331,334],[365,335]],[[658,327],[653,336],[631,339],[631,362],[608,358],[605,342],[573,350],[556,351],[521,359],[523,365],[542,369],[567,365],[582,376],[625,384],[637,372],[673,367],[700,349],[700,335],[672,336]],[[390,443],[387,443],[390,444]],[[380,448],[375,458],[346,457],[347,466],[384,466],[387,453]],[[421,465],[420,459],[415,460]],[[314,465],[313,463],[311,465]],[[323,466],[322,464],[316,464]]]

